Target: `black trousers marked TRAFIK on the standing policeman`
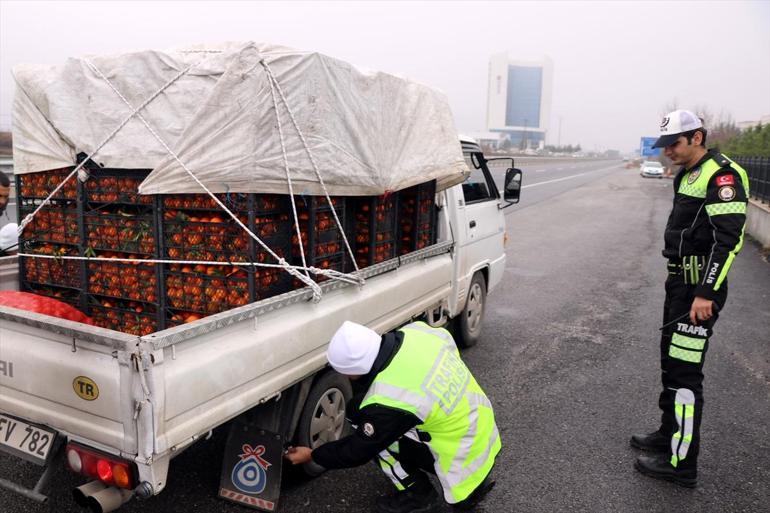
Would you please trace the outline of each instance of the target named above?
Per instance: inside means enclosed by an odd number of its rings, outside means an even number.
[[[663,329],[660,339],[663,390],[658,405],[662,410],[660,432],[671,437],[669,455],[676,454],[671,462],[680,469],[697,468],[703,416],[703,364],[718,311],[727,300],[725,281],[714,298],[713,316],[708,321],[692,324],[689,312],[695,287],[685,283],[684,273],[671,272],[669,266],[663,324],[671,324]],[[687,408],[687,403],[693,403],[691,408]]]

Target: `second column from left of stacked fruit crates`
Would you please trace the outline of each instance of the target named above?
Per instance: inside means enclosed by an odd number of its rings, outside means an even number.
[[[157,199],[139,194],[149,171],[92,169],[83,184],[84,256],[155,259]],[[132,335],[163,329],[157,264],[85,261],[86,311],[97,326]]]

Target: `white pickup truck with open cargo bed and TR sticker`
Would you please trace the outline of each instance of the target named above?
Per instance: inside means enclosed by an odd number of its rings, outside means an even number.
[[[479,146],[461,143],[470,174],[437,194],[438,242],[363,269],[363,286],[323,283],[319,302],[299,289],[143,337],[0,307],[0,451],[45,468],[34,489],[10,476],[0,487],[43,502],[50,469],[87,474],[88,455],[102,456],[127,489],[92,480],[75,496],[111,511],[160,493],[173,457],[241,415],[298,444],[337,439],[350,386],[325,350],[344,320],[382,333],[423,317],[476,343],[521,171],[492,159],[508,168],[501,197]],[[0,289],[13,289],[15,257],[3,260]]]

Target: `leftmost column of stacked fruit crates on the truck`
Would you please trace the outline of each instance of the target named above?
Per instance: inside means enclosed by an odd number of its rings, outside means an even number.
[[[72,168],[16,175],[19,220],[42,204]],[[80,255],[77,180],[70,179],[38,212],[19,237],[19,252],[52,256]],[[19,258],[21,290],[53,297],[82,308],[83,269],[78,260]]]

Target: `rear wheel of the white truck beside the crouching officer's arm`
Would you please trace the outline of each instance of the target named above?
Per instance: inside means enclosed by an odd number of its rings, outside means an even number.
[[[297,444],[315,449],[348,434],[345,408],[352,397],[353,389],[347,377],[333,370],[325,372],[308,393],[297,425]],[[325,470],[312,461],[302,465],[302,471],[310,477]]]

